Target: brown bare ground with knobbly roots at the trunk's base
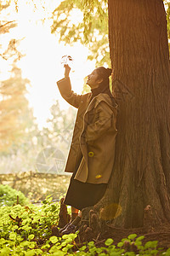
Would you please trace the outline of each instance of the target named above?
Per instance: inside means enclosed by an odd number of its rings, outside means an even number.
[[[158,241],[157,247],[162,247],[167,250],[170,248],[170,223],[160,224],[161,221],[158,218],[153,218],[153,211],[150,206],[144,209],[144,227],[133,229],[116,228],[108,222],[102,221],[99,218],[99,212],[95,207],[87,208],[85,217],[79,224],[79,236],[77,243],[82,244],[86,241],[94,241],[96,247],[105,247],[105,241],[111,238],[116,245],[122,241],[123,238],[131,234],[137,236],[144,236],[142,244],[147,241]],[[64,203],[61,202],[59,219],[63,217],[67,218],[67,210]],[[88,218],[87,218],[88,217]]]

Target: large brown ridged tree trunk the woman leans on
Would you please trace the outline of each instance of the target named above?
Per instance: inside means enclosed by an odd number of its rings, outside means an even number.
[[[117,227],[141,227],[144,208],[150,205],[154,224],[164,224],[170,221],[165,9],[161,0],[108,2],[113,90],[119,113],[115,165],[101,218]]]

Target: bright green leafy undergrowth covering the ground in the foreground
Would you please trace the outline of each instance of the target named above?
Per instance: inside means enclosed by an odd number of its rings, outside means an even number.
[[[143,244],[144,236],[135,234],[116,245],[109,238],[103,247],[94,241],[80,246],[78,231],[62,237],[52,235],[58,218],[59,203],[50,197],[38,207],[0,207],[0,255],[170,255],[170,249],[163,252],[157,241]]]

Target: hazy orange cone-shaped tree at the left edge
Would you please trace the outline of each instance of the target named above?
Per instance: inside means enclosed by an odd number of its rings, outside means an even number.
[[[20,140],[26,129],[22,115],[26,113],[28,101],[26,99],[26,84],[28,79],[22,79],[18,67],[12,68],[11,77],[0,86],[0,150],[4,151],[14,141]]]

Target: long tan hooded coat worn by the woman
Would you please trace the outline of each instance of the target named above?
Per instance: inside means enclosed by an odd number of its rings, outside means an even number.
[[[104,93],[91,102],[91,93],[77,95],[69,78],[57,84],[65,101],[78,108],[65,172],[77,170],[75,179],[82,183],[108,183],[115,155],[117,106]]]

